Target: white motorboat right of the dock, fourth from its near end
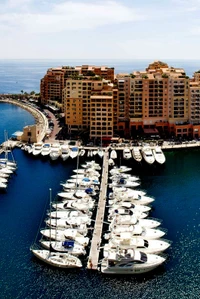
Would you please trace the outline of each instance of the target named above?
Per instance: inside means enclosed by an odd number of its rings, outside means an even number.
[[[161,225],[158,219],[137,218],[135,215],[115,215],[109,225],[109,230],[112,230],[114,225],[135,225],[139,224],[142,227],[155,228]]]

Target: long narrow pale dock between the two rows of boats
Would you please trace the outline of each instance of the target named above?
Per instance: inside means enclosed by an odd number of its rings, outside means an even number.
[[[107,183],[108,183],[108,160],[109,160],[109,151],[106,148],[104,157],[103,157],[103,170],[102,170],[102,180],[99,193],[99,202],[97,207],[97,214],[95,220],[95,226],[91,241],[90,253],[87,263],[87,268],[92,270],[98,269],[99,262],[99,251],[101,244],[102,228],[104,221],[104,213],[106,206],[106,194],[107,194]]]

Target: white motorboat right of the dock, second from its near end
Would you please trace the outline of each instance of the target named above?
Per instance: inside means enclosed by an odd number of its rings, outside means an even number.
[[[105,250],[110,248],[138,249],[146,253],[162,253],[171,246],[171,242],[165,239],[146,240],[143,237],[131,237],[127,239],[109,239],[104,245]]]

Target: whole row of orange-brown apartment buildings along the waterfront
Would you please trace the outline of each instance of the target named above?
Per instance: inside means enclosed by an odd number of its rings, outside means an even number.
[[[200,71],[190,79],[184,69],[161,61],[115,79],[114,68],[104,66],[49,69],[41,80],[41,98],[59,103],[69,133],[89,130],[93,139],[151,131],[200,137]]]

